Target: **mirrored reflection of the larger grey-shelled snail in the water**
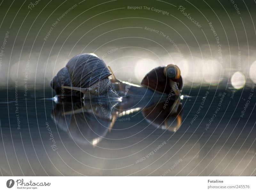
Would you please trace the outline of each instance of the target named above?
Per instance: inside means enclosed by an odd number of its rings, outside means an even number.
[[[60,102],[52,110],[51,117],[77,144],[97,145],[114,124],[112,109],[118,102]]]

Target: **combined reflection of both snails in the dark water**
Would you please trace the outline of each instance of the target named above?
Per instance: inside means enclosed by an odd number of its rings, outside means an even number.
[[[77,144],[95,146],[106,138],[120,117],[134,118],[132,115],[138,111],[141,111],[148,123],[154,127],[176,132],[181,125],[180,99],[169,100],[165,109],[164,104],[165,101],[148,103],[146,106],[145,103],[139,103],[131,108],[132,103],[118,100],[112,103],[104,100],[59,102],[52,110],[51,116],[58,128],[67,132]],[[134,124],[138,123],[137,121]]]

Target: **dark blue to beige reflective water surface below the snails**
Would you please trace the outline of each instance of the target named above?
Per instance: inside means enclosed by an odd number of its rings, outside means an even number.
[[[250,93],[185,89],[164,105],[167,98],[57,102],[45,99],[51,90],[15,100],[14,89],[2,89],[1,174],[253,176]]]

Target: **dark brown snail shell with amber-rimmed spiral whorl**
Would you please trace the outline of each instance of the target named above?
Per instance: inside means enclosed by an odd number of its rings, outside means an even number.
[[[173,64],[154,68],[142,79],[141,85],[157,92],[169,94],[174,91],[180,95],[183,86],[180,69]]]

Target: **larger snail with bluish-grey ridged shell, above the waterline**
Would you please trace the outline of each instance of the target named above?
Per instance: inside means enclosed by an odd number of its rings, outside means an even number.
[[[111,89],[110,75],[104,61],[95,54],[79,54],[53,77],[51,87],[63,98],[71,95],[83,97],[83,94],[102,95]]]

